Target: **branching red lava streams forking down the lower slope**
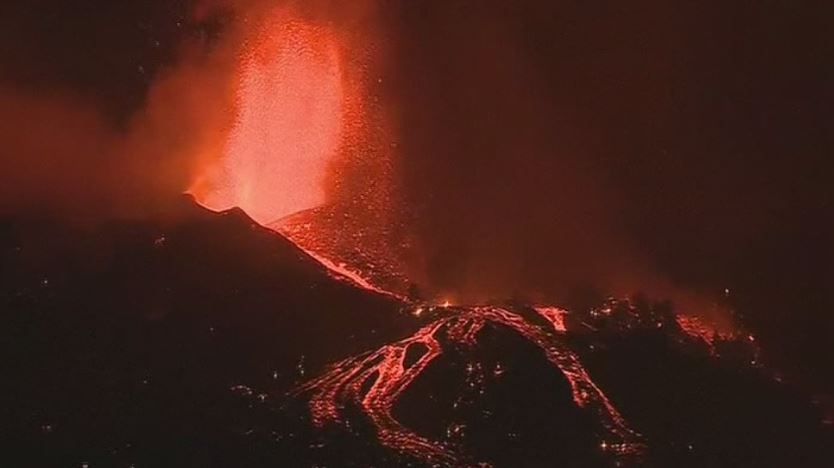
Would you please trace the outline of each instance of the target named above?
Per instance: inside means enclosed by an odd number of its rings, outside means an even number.
[[[556,308],[537,309],[556,333],[526,320],[522,315],[498,307],[449,309],[454,315],[438,318],[403,340],[387,344],[376,351],[351,357],[331,365],[324,375],[296,391],[311,393],[310,411],[316,425],[343,423],[346,404],[357,405],[373,422],[379,441],[392,449],[415,456],[429,463],[459,464],[452,448],[409,430],[396,420],[392,412],[403,391],[443,353],[440,338],[456,345],[472,346],[487,323],[504,326],[536,344],[568,379],[573,399],[599,419],[605,431],[601,443],[617,458],[639,456],[644,448],[641,436],[632,430],[614,405],[591,380],[579,357],[565,345],[559,333],[564,311]],[[441,335],[442,333],[442,335]],[[405,357],[412,346],[426,351],[412,365]],[[370,387],[363,393],[364,388]]]

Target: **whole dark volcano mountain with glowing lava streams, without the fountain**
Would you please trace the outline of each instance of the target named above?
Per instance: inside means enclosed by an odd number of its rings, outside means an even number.
[[[752,335],[644,297],[407,298],[371,256],[294,237],[298,217],[287,238],[174,211],[3,221],[10,466],[830,461],[830,426]]]

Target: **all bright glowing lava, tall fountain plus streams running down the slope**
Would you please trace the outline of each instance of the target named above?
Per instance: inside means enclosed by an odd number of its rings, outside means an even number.
[[[292,398],[309,398],[311,422],[321,428],[350,427],[356,418],[350,410],[354,407],[373,424],[381,445],[412,460],[429,465],[488,465],[488,460],[467,453],[451,440],[463,426],[452,425],[444,440],[433,439],[401,422],[397,408],[403,394],[424,378],[431,366],[439,365],[449,349],[468,356],[468,373],[473,369],[483,373],[487,364],[472,350],[480,346],[483,330],[491,327],[527,340],[549,362],[551,371],[561,372],[569,382],[574,403],[596,421],[598,450],[603,457],[618,466],[642,460],[650,441],[595,383],[580,353],[573,349],[577,338],[571,336],[603,333],[593,323],[600,317],[614,320],[617,308],[625,310],[625,315],[616,319],[615,329],[667,327],[681,337],[702,342],[712,353],[715,340],[732,341],[735,336],[719,335],[694,317],[679,315],[672,320],[637,311],[627,301],[611,301],[587,316],[577,313],[571,322],[571,313],[555,306],[452,306],[447,300],[433,304],[416,297],[416,286],[401,269],[397,248],[390,245],[392,238],[384,235],[385,227],[368,221],[368,212],[390,202],[382,193],[390,183],[368,179],[360,197],[326,199],[333,191],[326,190],[324,183],[335,180],[327,174],[335,170],[340,156],[360,151],[367,161],[368,154],[373,154],[367,147],[356,147],[360,140],[356,135],[346,135],[368,128],[362,119],[370,118],[367,112],[356,112],[356,99],[362,92],[357,91],[356,83],[345,81],[342,67],[349,61],[344,56],[350,51],[323,26],[305,24],[285,14],[276,18],[264,25],[241,60],[238,116],[224,159],[219,167],[206,172],[192,192],[215,210],[243,208],[256,221],[293,241],[334,279],[401,303],[417,328],[410,336],[374,351],[330,364],[320,376],[296,387]],[[353,113],[348,112],[351,102]],[[355,120],[350,125],[345,124],[347,116]],[[389,151],[394,151],[393,147]],[[351,157],[362,158],[347,155]],[[365,216],[357,215],[360,212]],[[610,324],[605,327],[611,329]],[[494,372],[500,375],[503,370],[498,365]],[[470,384],[478,387],[481,395],[488,391],[483,375]]]

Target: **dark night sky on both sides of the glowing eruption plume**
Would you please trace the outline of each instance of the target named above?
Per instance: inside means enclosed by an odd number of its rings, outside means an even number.
[[[739,291],[785,353],[828,353],[807,338],[834,334],[825,3],[383,1],[424,274],[546,289],[639,264]],[[188,9],[5,2],[0,79],[119,121],[181,41],[216,33]]]

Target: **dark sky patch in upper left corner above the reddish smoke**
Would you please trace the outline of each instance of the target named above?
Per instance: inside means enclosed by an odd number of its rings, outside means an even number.
[[[0,73],[30,86],[69,87],[127,113],[173,58],[187,18],[180,1],[5,2]]]

